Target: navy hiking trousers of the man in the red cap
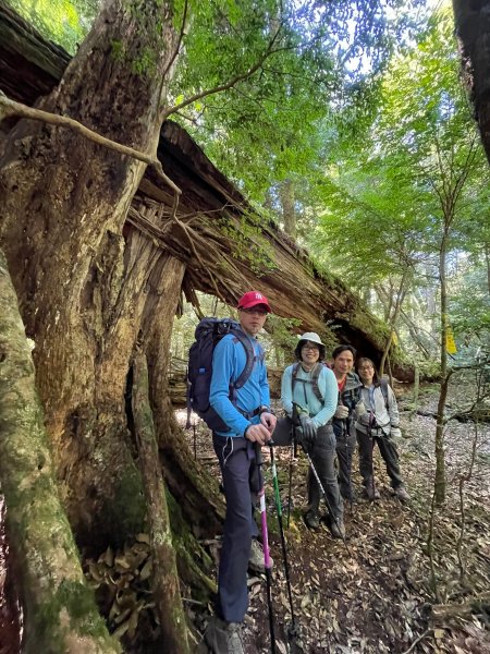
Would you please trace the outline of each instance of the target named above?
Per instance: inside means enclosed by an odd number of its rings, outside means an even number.
[[[254,508],[258,468],[254,444],[242,437],[212,435],[226,498],[223,545],[218,571],[218,598],[226,622],[242,622],[248,607],[247,568],[252,538],[258,529]]]

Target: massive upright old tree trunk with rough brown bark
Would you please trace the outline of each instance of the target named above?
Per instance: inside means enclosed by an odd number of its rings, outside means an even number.
[[[132,4],[106,4],[39,106],[152,153],[175,35],[167,5]],[[147,52],[151,64],[134,72]],[[124,447],[123,398],[155,251],[148,240],[125,243],[122,229],[144,169],[71,131],[27,120],[9,134],[0,159],[1,242],[36,343],[46,424],[82,538],[94,519],[112,528],[101,511],[114,482],[136,475]]]

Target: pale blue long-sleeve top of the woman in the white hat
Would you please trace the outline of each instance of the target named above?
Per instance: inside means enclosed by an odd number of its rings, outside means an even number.
[[[293,413],[293,400],[304,409],[307,409],[313,422],[317,427],[326,425],[336,409],[336,400],[339,389],[336,385],[335,375],[327,366],[322,366],[320,375],[318,377],[318,388],[320,389],[323,403],[319,401],[314,392],[311,380],[311,374],[307,373],[299,365],[296,379],[304,379],[307,384],[302,382],[295,382],[294,390],[292,386],[293,367],[290,365],[285,368],[282,380],[281,380],[281,400],[282,404],[291,417]]]

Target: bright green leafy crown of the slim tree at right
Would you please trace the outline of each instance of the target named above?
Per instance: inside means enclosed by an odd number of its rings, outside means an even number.
[[[367,296],[384,284],[393,298],[403,278],[420,326],[422,294],[427,288],[437,294],[443,229],[452,258],[481,253],[489,242],[482,228],[489,223],[486,161],[458,66],[452,15],[436,12],[371,87],[378,110],[362,118],[360,134],[327,132],[332,150],[320,183],[319,221],[309,230],[315,254]],[[355,125],[359,112],[351,116]],[[460,310],[467,300],[462,304],[451,257],[454,313],[456,296]],[[474,330],[485,327],[475,304],[466,307],[466,323],[455,315],[455,329],[468,335],[471,320]],[[433,307],[428,312],[431,322]],[[429,341],[428,349],[437,350],[437,343]]]

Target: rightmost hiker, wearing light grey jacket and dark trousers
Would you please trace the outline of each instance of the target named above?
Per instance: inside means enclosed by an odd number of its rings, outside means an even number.
[[[384,379],[378,378],[370,359],[360,358],[357,372],[363,387],[360,402],[355,408],[355,427],[359,446],[359,472],[365,493],[371,501],[380,498],[372,468],[372,450],[378,444],[396,496],[401,501],[407,501],[409,495],[403,484],[395,446],[395,439],[402,435],[396,398],[391,386]]]

